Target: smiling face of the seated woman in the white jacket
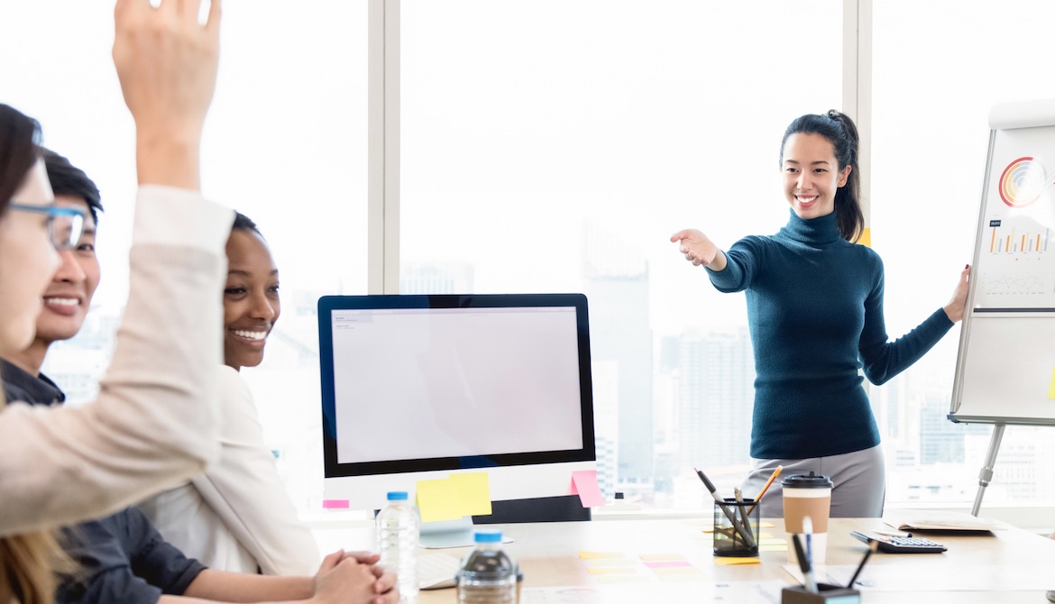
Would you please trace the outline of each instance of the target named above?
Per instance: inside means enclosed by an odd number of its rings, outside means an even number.
[[[235,370],[256,367],[279,319],[279,270],[264,239],[243,229],[227,239],[227,269],[224,364]]]

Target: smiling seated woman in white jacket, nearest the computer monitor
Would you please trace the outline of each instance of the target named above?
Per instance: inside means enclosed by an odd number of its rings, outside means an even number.
[[[319,546],[298,518],[264,443],[253,396],[238,373],[264,361],[281,313],[279,269],[256,223],[242,213],[235,213],[227,239],[223,293],[219,461],[139,507],[167,541],[210,568],[310,574],[319,567]]]

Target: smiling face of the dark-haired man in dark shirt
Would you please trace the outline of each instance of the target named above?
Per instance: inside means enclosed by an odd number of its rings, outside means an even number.
[[[43,295],[37,318],[37,339],[45,345],[77,335],[99,286],[99,259],[95,255],[95,220],[88,202],[72,195],[58,195],[55,204],[84,213],[84,234],[73,250],[59,252],[61,265]]]

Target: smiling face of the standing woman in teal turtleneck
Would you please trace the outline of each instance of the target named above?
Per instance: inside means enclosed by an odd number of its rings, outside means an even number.
[[[782,155],[784,195],[795,215],[808,220],[835,212],[836,192],[846,184],[850,167],[840,170],[831,142],[820,134],[792,134]]]

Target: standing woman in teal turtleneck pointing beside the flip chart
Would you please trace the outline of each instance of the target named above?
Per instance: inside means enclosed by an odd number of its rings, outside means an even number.
[[[784,475],[831,478],[832,517],[880,517],[885,467],[859,369],[883,384],[931,350],[963,317],[971,268],[944,307],[889,342],[882,260],[857,245],[864,215],[853,121],[837,111],[795,119],[780,165],[791,208],[779,233],[745,237],[728,252],[694,229],[670,240],[715,289],[747,295],[756,378],[744,492],[759,492],[782,465]],[[764,517],[783,514],[779,482],[762,500]]]

